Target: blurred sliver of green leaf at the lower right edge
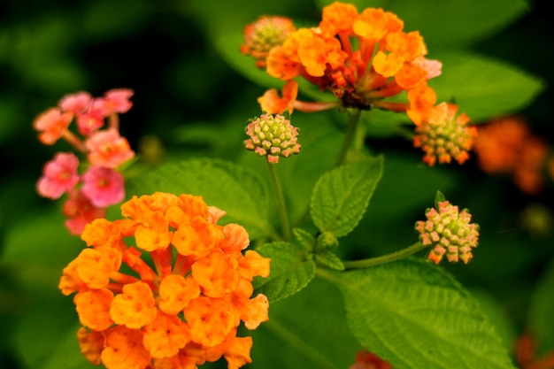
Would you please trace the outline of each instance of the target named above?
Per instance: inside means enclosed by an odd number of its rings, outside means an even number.
[[[529,327],[535,335],[541,354],[554,350],[554,330],[552,330],[554,294],[552,291],[554,291],[554,259],[535,287],[529,305]]]

